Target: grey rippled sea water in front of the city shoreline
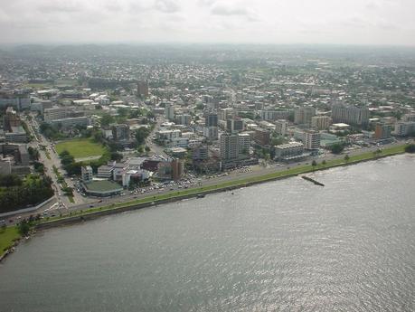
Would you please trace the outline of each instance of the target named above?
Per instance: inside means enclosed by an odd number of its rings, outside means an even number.
[[[0,311],[415,311],[415,157],[52,229]]]

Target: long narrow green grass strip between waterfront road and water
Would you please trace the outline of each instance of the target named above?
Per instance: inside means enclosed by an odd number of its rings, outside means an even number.
[[[404,152],[405,152],[405,146],[391,147],[391,148],[382,150],[382,156],[391,156],[391,155],[401,154]],[[287,170],[278,171],[278,172],[271,173],[268,175],[251,176],[251,177],[244,178],[244,179],[232,180],[232,181],[223,182],[220,184],[214,184],[210,186],[195,187],[195,188],[185,189],[182,191],[174,191],[174,192],[170,192],[166,194],[157,194],[154,196],[147,196],[147,197],[140,198],[134,201],[126,202],[126,203],[113,203],[111,205],[104,206],[104,207],[90,208],[89,210],[86,210],[86,211],[71,213],[71,215],[55,217],[55,218],[50,219],[50,221],[59,220],[62,218],[67,218],[67,217],[75,216],[75,215],[85,215],[89,213],[96,213],[99,211],[124,208],[128,206],[142,204],[142,203],[157,203],[163,200],[169,200],[169,199],[174,199],[174,198],[179,199],[184,196],[207,193],[207,192],[218,191],[218,190],[226,190],[232,187],[248,186],[249,184],[272,181],[278,178],[290,177],[290,176],[295,176],[299,174],[306,174],[306,173],[314,171],[315,169],[326,169],[326,168],[335,167],[338,165],[349,165],[349,164],[354,164],[354,163],[358,163],[361,161],[370,160],[374,158],[375,156],[373,155],[373,153],[368,152],[368,153],[364,153],[364,154],[357,155],[357,156],[349,156],[349,160],[347,162],[344,160],[344,158],[343,159],[339,158],[339,159],[325,161],[322,164],[320,165],[316,164],[315,166],[298,165],[295,168],[289,168]]]

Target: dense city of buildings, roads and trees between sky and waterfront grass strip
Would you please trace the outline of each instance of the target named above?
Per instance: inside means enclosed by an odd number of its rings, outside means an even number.
[[[0,52],[0,108],[6,224],[23,208],[49,219],[409,143],[415,59],[403,48],[28,45]]]

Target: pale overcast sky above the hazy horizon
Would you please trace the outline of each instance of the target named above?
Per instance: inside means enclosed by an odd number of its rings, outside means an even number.
[[[0,0],[0,43],[415,46],[415,0]]]

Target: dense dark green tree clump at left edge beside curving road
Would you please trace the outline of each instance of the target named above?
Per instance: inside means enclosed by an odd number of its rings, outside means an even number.
[[[0,175],[0,213],[42,203],[53,195],[52,180],[46,175]]]

